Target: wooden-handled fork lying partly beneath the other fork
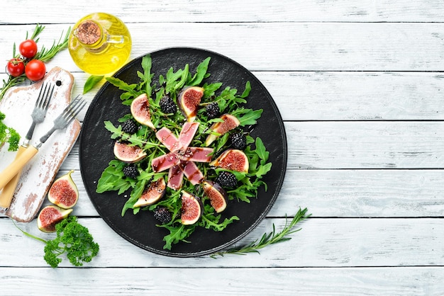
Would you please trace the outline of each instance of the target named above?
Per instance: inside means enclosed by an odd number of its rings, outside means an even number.
[[[46,112],[48,111],[48,107],[50,106],[50,101],[52,98],[53,91],[54,91],[53,85],[48,86],[48,84],[42,84],[42,86],[40,87],[40,92],[38,93],[37,100],[35,100],[33,113],[31,113],[31,118],[33,118],[33,123],[29,127],[28,133],[25,136],[25,141],[20,147],[18,147],[16,158],[18,158],[18,156],[21,156],[21,154],[29,146],[29,142],[33,137],[35,125],[43,123],[43,120],[45,120]],[[9,207],[9,205],[11,205],[11,200],[14,191],[16,190],[20,176],[21,176],[21,171],[18,171],[16,176],[14,176],[12,180],[9,181],[9,183],[7,183],[6,186],[4,186],[3,190],[1,190],[0,207]]]

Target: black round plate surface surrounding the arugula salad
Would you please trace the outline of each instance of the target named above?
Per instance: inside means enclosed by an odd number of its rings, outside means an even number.
[[[287,138],[282,117],[267,89],[245,67],[232,59],[216,52],[184,47],[167,48],[151,52],[150,55],[152,73],[155,74],[153,81],[156,81],[160,74],[165,76],[170,67],[177,71],[183,69],[187,63],[190,72],[195,72],[197,65],[206,57],[211,57],[208,70],[211,76],[206,81],[221,81],[223,82],[221,89],[230,86],[232,89],[238,89],[238,93],[242,93],[245,83],[250,81],[252,89],[246,107],[264,110],[251,135],[260,137],[270,152],[269,161],[272,162],[272,169],[263,178],[268,186],[267,191],[261,188],[257,198],[252,198],[251,203],[231,200],[223,216],[237,215],[240,220],[230,224],[223,232],[213,232],[198,227],[189,237],[189,243],[174,244],[171,251],[163,249],[165,244],[163,237],[169,232],[167,229],[155,226],[157,222],[151,212],[141,211],[133,215],[133,212],[128,210],[126,215],[121,217],[127,194],[119,196],[116,192],[96,193],[97,181],[102,171],[108,166],[109,161],[114,159],[114,141],[111,140],[109,131],[105,129],[104,121],[110,120],[116,125],[118,118],[127,114],[129,110],[128,106],[121,104],[122,91],[108,82],[101,87],[91,102],[82,126],[79,161],[84,186],[104,221],[121,237],[136,246],[166,256],[191,257],[211,254],[245,237],[267,215],[274,204],[287,167]],[[140,81],[137,71],[143,71],[141,61],[142,57],[134,59],[114,76],[128,84],[137,84]]]

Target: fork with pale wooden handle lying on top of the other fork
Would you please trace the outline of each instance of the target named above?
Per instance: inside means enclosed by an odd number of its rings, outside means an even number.
[[[33,158],[35,154],[37,154],[38,149],[42,146],[43,143],[48,140],[48,138],[52,135],[53,132],[56,130],[62,130],[67,125],[72,123],[72,120],[75,119],[77,114],[79,114],[80,110],[84,108],[84,106],[87,104],[86,101],[82,100],[77,96],[77,98],[74,98],[74,101],[70,103],[60,114],[57,118],[54,120],[54,126],[45,134],[43,137],[40,137],[40,142],[33,146],[29,145],[28,148],[26,148],[20,156],[18,156],[16,159],[14,159],[9,166],[4,169],[0,173],[0,189],[4,188],[11,179],[16,176],[16,174],[23,169],[23,166],[26,166],[28,164],[28,161]]]

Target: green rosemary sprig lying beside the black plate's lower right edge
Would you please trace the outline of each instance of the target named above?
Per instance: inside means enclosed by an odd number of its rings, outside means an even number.
[[[289,234],[293,234],[294,232],[299,232],[301,228],[294,229],[297,223],[305,220],[310,217],[311,214],[306,215],[307,209],[304,210],[299,209],[296,215],[294,215],[292,221],[288,223],[288,218],[286,217],[284,229],[281,232],[276,232],[273,224],[273,230],[270,233],[265,233],[262,235],[259,241],[257,239],[255,241],[250,242],[250,244],[246,244],[245,246],[240,246],[238,248],[232,248],[227,250],[218,251],[210,255],[211,258],[217,258],[217,256],[223,257],[226,254],[236,254],[236,255],[246,255],[248,253],[260,253],[259,250],[269,246],[270,244],[277,244],[282,241],[289,241],[292,239],[288,237]]]

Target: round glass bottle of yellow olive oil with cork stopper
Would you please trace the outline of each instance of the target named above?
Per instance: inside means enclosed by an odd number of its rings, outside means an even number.
[[[116,16],[91,13],[74,25],[68,49],[74,63],[84,72],[109,75],[128,61],[131,35]]]

